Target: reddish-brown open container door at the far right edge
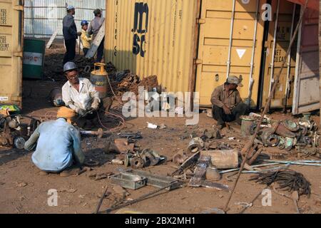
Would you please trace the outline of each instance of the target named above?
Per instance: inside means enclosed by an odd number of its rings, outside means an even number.
[[[319,12],[307,9],[300,31],[300,52],[297,56],[295,95],[292,108],[294,115],[320,108],[318,38]]]

